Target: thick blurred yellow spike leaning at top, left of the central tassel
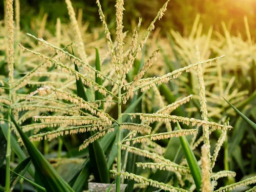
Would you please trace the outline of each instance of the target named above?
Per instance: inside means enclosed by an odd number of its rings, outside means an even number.
[[[70,15],[71,24],[72,24],[73,29],[74,29],[75,34],[76,34],[76,46],[78,48],[77,49],[78,53],[79,53],[82,61],[87,63],[88,59],[87,59],[87,55],[86,55],[85,50],[84,50],[84,42],[83,42],[81,32],[79,30],[79,26],[78,26],[78,23],[77,23],[77,20],[76,20],[76,14],[74,12],[71,1],[70,0],[65,0],[65,1],[67,3],[67,10],[68,10],[68,14]]]

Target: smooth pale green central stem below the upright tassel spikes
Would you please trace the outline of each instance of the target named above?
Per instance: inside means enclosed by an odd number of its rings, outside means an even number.
[[[122,96],[119,83],[118,88],[118,132],[117,132],[117,174],[116,174],[116,192],[120,192],[121,184],[121,123],[122,123]]]

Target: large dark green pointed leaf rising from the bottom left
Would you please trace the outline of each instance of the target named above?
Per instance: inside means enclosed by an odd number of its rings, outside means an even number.
[[[14,117],[11,116],[12,122],[15,124],[17,131],[20,134],[29,156],[32,160],[38,175],[41,177],[42,182],[47,191],[58,191],[58,192],[74,192],[73,189],[58,175],[58,172],[52,167],[52,165],[45,159],[43,154],[30,142],[29,138],[17,124]]]

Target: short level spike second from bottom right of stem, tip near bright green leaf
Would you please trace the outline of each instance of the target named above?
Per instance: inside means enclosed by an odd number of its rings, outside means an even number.
[[[167,170],[171,172],[179,172],[182,175],[190,174],[190,169],[185,166],[180,166],[176,163],[169,164],[169,163],[136,163],[137,167],[150,168],[150,169],[160,169],[160,170]]]

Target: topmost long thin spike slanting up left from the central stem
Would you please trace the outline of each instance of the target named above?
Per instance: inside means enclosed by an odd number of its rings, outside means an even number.
[[[69,60],[71,60],[73,63],[77,64],[77,63],[81,63],[82,66],[84,67],[84,70],[87,70],[88,72],[90,72],[90,70],[92,70],[94,73],[97,73],[99,77],[101,78],[105,78],[108,79],[109,81],[112,81],[113,83],[116,83],[113,79],[108,78],[107,76],[105,76],[103,73],[101,73],[100,71],[96,70],[95,68],[91,67],[89,64],[87,64],[86,62],[82,61],[80,58],[77,58],[76,56],[70,54],[69,52],[65,51],[64,49],[61,49],[59,47],[56,47],[55,45],[52,45],[50,43],[48,43],[47,41],[45,41],[42,38],[37,38],[34,35],[31,35],[29,33],[27,33],[27,35],[29,35],[30,37],[36,39],[39,44],[42,44],[44,47],[46,47],[47,49],[51,50],[51,51],[55,51],[56,53],[58,53],[58,55],[65,57]],[[23,49],[23,47],[20,47],[21,49]],[[29,50],[28,50],[29,51]],[[35,53],[34,53],[35,54]]]

